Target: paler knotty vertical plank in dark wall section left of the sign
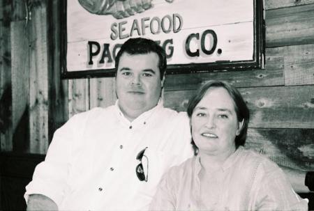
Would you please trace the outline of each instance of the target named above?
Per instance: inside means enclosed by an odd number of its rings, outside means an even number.
[[[45,1],[33,6],[29,34],[29,127],[30,153],[46,153],[48,148],[48,68]]]

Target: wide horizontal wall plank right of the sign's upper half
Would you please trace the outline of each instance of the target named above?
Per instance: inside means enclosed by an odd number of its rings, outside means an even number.
[[[314,3],[266,12],[266,47],[314,43]]]

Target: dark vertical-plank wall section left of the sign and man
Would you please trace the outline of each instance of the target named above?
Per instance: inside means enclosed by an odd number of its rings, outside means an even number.
[[[0,0],[1,151],[45,154],[54,130],[68,119],[59,5]]]

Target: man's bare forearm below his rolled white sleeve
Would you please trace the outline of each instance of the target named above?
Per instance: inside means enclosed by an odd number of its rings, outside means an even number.
[[[27,203],[27,211],[58,210],[57,204],[50,198],[41,194],[31,194]]]

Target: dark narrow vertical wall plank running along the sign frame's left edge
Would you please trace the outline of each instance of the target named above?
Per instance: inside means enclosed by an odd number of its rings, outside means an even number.
[[[48,140],[68,120],[68,81],[61,80],[61,1],[47,1]]]

